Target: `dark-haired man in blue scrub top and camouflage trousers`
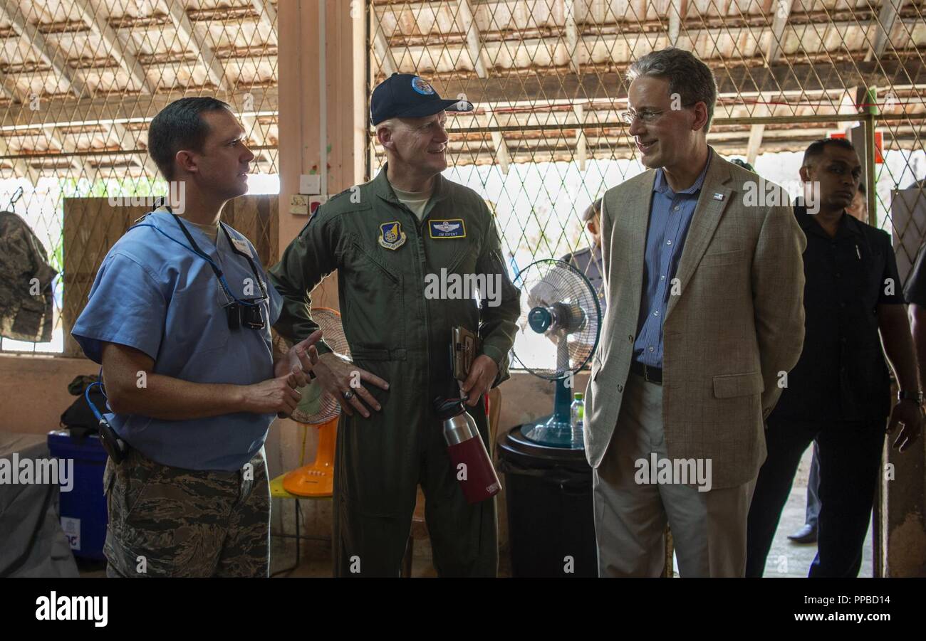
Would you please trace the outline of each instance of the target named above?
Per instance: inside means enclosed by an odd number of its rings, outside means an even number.
[[[219,222],[254,159],[229,105],[178,100],[148,139],[184,188],[183,216],[158,208],[116,242],[72,331],[103,365],[108,420],[128,445],[106,463],[106,573],[267,576],[264,440],[298,403],[320,332],[274,353],[281,298],[254,246]]]

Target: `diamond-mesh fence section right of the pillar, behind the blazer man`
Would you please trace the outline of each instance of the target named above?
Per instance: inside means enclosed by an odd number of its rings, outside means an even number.
[[[922,2],[372,0],[368,19],[370,90],[416,73],[476,105],[449,118],[447,174],[491,203],[513,273],[591,243],[585,208],[644,170],[620,118],[624,73],[668,46],[717,77],[720,154],[796,195],[807,144],[848,135],[870,223],[892,233],[905,274],[920,246],[926,203],[905,190],[926,176]],[[385,157],[369,133],[372,175]]]

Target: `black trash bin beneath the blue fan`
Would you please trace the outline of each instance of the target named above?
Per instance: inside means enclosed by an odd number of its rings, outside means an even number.
[[[585,452],[540,445],[518,426],[498,439],[498,459],[512,575],[597,576],[592,468]]]

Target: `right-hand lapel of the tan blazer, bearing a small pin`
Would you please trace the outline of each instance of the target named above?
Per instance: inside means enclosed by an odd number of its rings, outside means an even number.
[[[701,262],[701,257],[707,251],[707,245],[710,244],[710,239],[713,238],[714,231],[720,224],[720,217],[723,216],[723,212],[726,211],[731,201],[732,189],[724,184],[730,180],[730,172],[724,166],[720,155],[717,152],[712,152],[712,154],[704,184],[701,185],[701,194],[694,208],[691,227],[688,228],[688,235],[685,237],[679,269],[675,274],[675,277],[679,279],[682,292],[694,275],[694,269]],[[666,309],[667,318],[679,298],[680,296],[669,296],[669,306]]]

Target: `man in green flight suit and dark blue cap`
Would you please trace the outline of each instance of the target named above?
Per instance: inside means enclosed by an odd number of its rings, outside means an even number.
[[[370,112],[387,165],[321,205],[269,272],[284,299],[275,328],[294,342],[318,328],[309,292],[338,272],[354,361],[322,341],[313,367],[346,414],[334,473],[336,576],[399,574],[419,484],[438,574],[497,571],[495,500],[466,502],[432,405],[462,389],[488,447],[482,395],[508,377],[519,315],[494,217],[475,191],[441,176],[445,112],[472,108],[442,100],[417,76],[384,80]],[[462,384],[453,327],[482,339]]]

